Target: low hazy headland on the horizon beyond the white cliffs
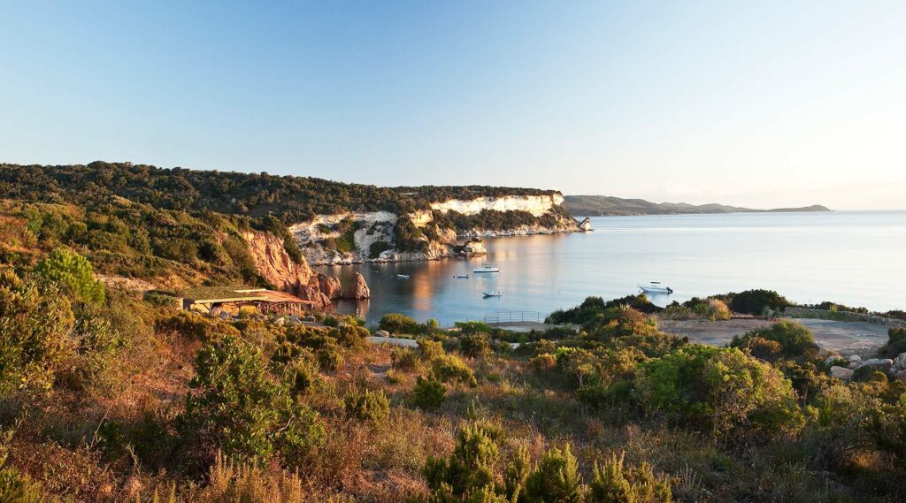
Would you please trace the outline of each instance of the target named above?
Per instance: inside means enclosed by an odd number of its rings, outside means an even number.
[[[564,209],[573,215],[603,216],[630,214],[732,214],[757,212],[829,212],[827,207],[814,204],[802,208],[757,210],[726,204],[651,203],[644,199],[623,199],[610,195],[566,195]]]

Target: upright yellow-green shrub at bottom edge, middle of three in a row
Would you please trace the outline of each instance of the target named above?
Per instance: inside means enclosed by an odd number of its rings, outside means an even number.
[[[525,479],[525,500],[538,503],[579,503],[583,500],[579,463],[568,443],[562,451],[554,447],[544,453],[538,466]]]

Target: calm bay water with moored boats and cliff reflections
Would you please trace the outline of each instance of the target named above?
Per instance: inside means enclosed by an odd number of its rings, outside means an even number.
[[[486,240],[487,258],[322,268],[347,280],[359,270],[366,303],[341,312],[376,321],[400,312],[444,326],[495,311],[572,307],[589,295],[614,299],[660,280],[665,305],[731,290],[776,289],[797,302],[834,300],[906,309],[906,212],[697,214],[592,219],[593,233]],[[482,262],[501,272],[472,274]],[[410,280],[397,280],[397,274]],[[468,280],[454,274],[468,273]],[[504,297],[483,299],[496,289]]]

